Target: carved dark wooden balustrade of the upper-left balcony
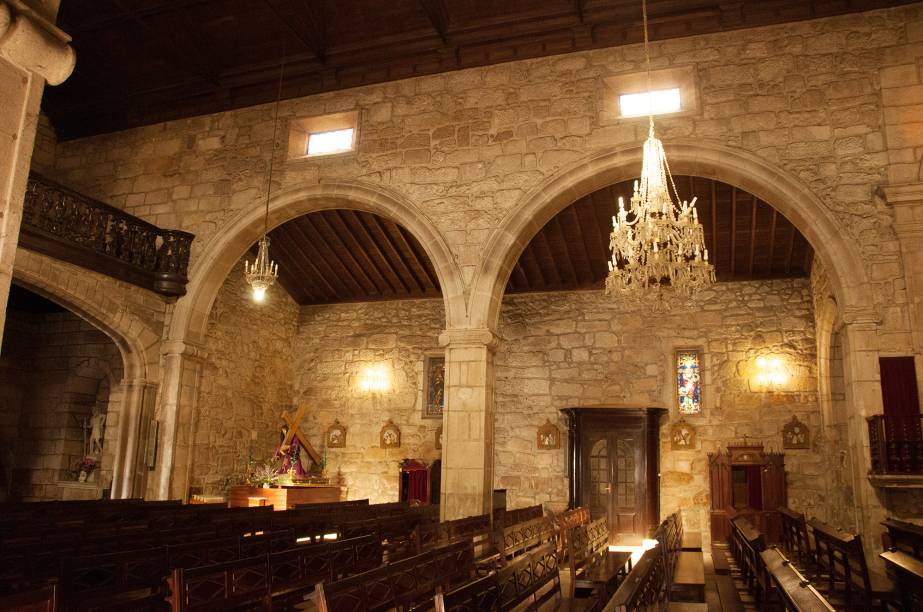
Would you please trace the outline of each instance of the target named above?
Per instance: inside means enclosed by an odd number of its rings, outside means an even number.
[[[163,295],[186,293],[194,236],[31,174],[19,244]]]

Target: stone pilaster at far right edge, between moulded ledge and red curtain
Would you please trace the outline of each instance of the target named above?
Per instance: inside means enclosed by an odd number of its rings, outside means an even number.
[[[923,380],[923,183],[883,187],[901,246],[917,379]]]

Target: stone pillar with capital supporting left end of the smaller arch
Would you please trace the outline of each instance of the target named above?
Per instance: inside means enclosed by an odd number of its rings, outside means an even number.
[[[163,344],[161,355],[163,386],[155,416],[160,426],[161,450],[146,497],[187,501],[199,379],[206,352],[203,347],[189,342],[168,340]]]

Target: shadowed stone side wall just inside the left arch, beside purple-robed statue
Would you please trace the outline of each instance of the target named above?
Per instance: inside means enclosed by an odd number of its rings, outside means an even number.
[[[292,409],[295,397],[298,305],[278,284],[264,303],[254,303],[243,266],[242,259],[228,276],[208,321],[192,493],[223,494],[245,473],[251,452],[254,460],[269,459],[279,444],[282,411]]]

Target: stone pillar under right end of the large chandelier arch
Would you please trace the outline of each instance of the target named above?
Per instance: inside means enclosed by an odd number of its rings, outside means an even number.
[[[881,414],[881,372],[878,366],[879,346],[877,312],[870,309],[845,309],[842,313],[843,374],[846,387],[846,407],[849,437],[848,452],[853,467],[855,525],[862,534],[866,558],[880,565],[880,523],[885,519],[886,494],[871,485],[868,424],[866,417]]]

